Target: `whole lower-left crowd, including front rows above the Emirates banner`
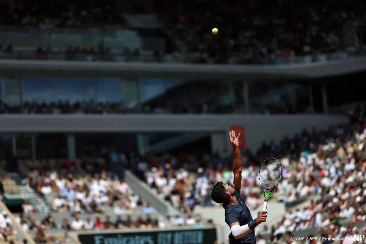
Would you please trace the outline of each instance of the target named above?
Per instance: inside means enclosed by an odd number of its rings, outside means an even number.
[[[59,240],[48,231],[206,225],[199,215],[166,216],[164,221],[159,221],[156,210],[125,182],[106,171],[105,166],[103,159],[19,160],[19,171],[28,175],[23,183],[35,189],[52,208],[47,216],[35,220],[32,214],[37,212],[36,208],[24,201],[23,212],[17,216],[23,230],[34,233],[36,242],[57,243]],[[60,223],[53,217],[57,213],[64,216]],[[96,217],[80,218],[85,214]]]

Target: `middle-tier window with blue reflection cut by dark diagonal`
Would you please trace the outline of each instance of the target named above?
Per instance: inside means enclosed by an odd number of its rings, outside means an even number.
[[[142,109],[147,113],[232,113],[233,82],[142,79]]]

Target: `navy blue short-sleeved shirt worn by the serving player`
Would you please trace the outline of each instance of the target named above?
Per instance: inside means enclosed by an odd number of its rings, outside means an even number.
[[[229,226],[235,222],[239,222],[240,226],[247,225],[251,220],[253,220],[252,215],[240,196],[239,190],[234,186],[232,187],[235,189],[234,194],[236,199],[238,199],[238,204],[227,205],[225,207],[225,222]],[[229,240],[230,244],[256,244],[254,230],[251,230],[248,234],[239,239],[235,239],[230,233]]]

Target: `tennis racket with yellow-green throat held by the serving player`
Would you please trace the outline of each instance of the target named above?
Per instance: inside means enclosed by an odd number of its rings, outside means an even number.
[[[281,162],[275,158],[264,160],[259,167],[258,177],[264,192],[263,211],[267,210],[268,198],[282,179],[282,171]]]

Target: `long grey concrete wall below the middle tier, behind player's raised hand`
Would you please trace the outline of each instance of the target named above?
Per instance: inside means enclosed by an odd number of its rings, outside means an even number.
[[[327,128],[347,121],[346,116],[330,115],[2,115],[0,132],[207,131],[226,134],[231,125],[243,125],[246,145],[255,150],[263,141],[278,141],[303,129]]]

